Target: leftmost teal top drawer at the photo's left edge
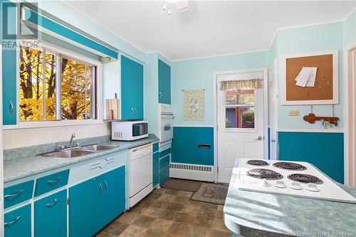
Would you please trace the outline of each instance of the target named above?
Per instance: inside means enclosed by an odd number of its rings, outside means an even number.
[[[29,180],[4,189],[4,208],[31,199],[33,194],[33,182],[33,180]]]

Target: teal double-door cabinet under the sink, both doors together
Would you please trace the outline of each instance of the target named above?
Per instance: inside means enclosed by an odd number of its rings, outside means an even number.
[[[69,236],[93,236],[125,211],[125,166],[69,189]]]

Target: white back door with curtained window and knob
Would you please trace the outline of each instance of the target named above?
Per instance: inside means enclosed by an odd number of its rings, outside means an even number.
[[[221,80],[263,78],[263,72],[217,75],[218,181],[229,182],[236,158],[264,158],[263,89],[219,90]]]

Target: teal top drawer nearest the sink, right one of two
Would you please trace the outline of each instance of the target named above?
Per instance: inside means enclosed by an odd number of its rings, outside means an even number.
[[[35,196],[58,189],[68,183],[69,169],[37,179]]]

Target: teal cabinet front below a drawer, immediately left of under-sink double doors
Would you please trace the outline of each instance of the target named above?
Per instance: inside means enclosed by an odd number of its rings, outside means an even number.
[[[67,189],[35,202],[35,236],[67,236]]]

